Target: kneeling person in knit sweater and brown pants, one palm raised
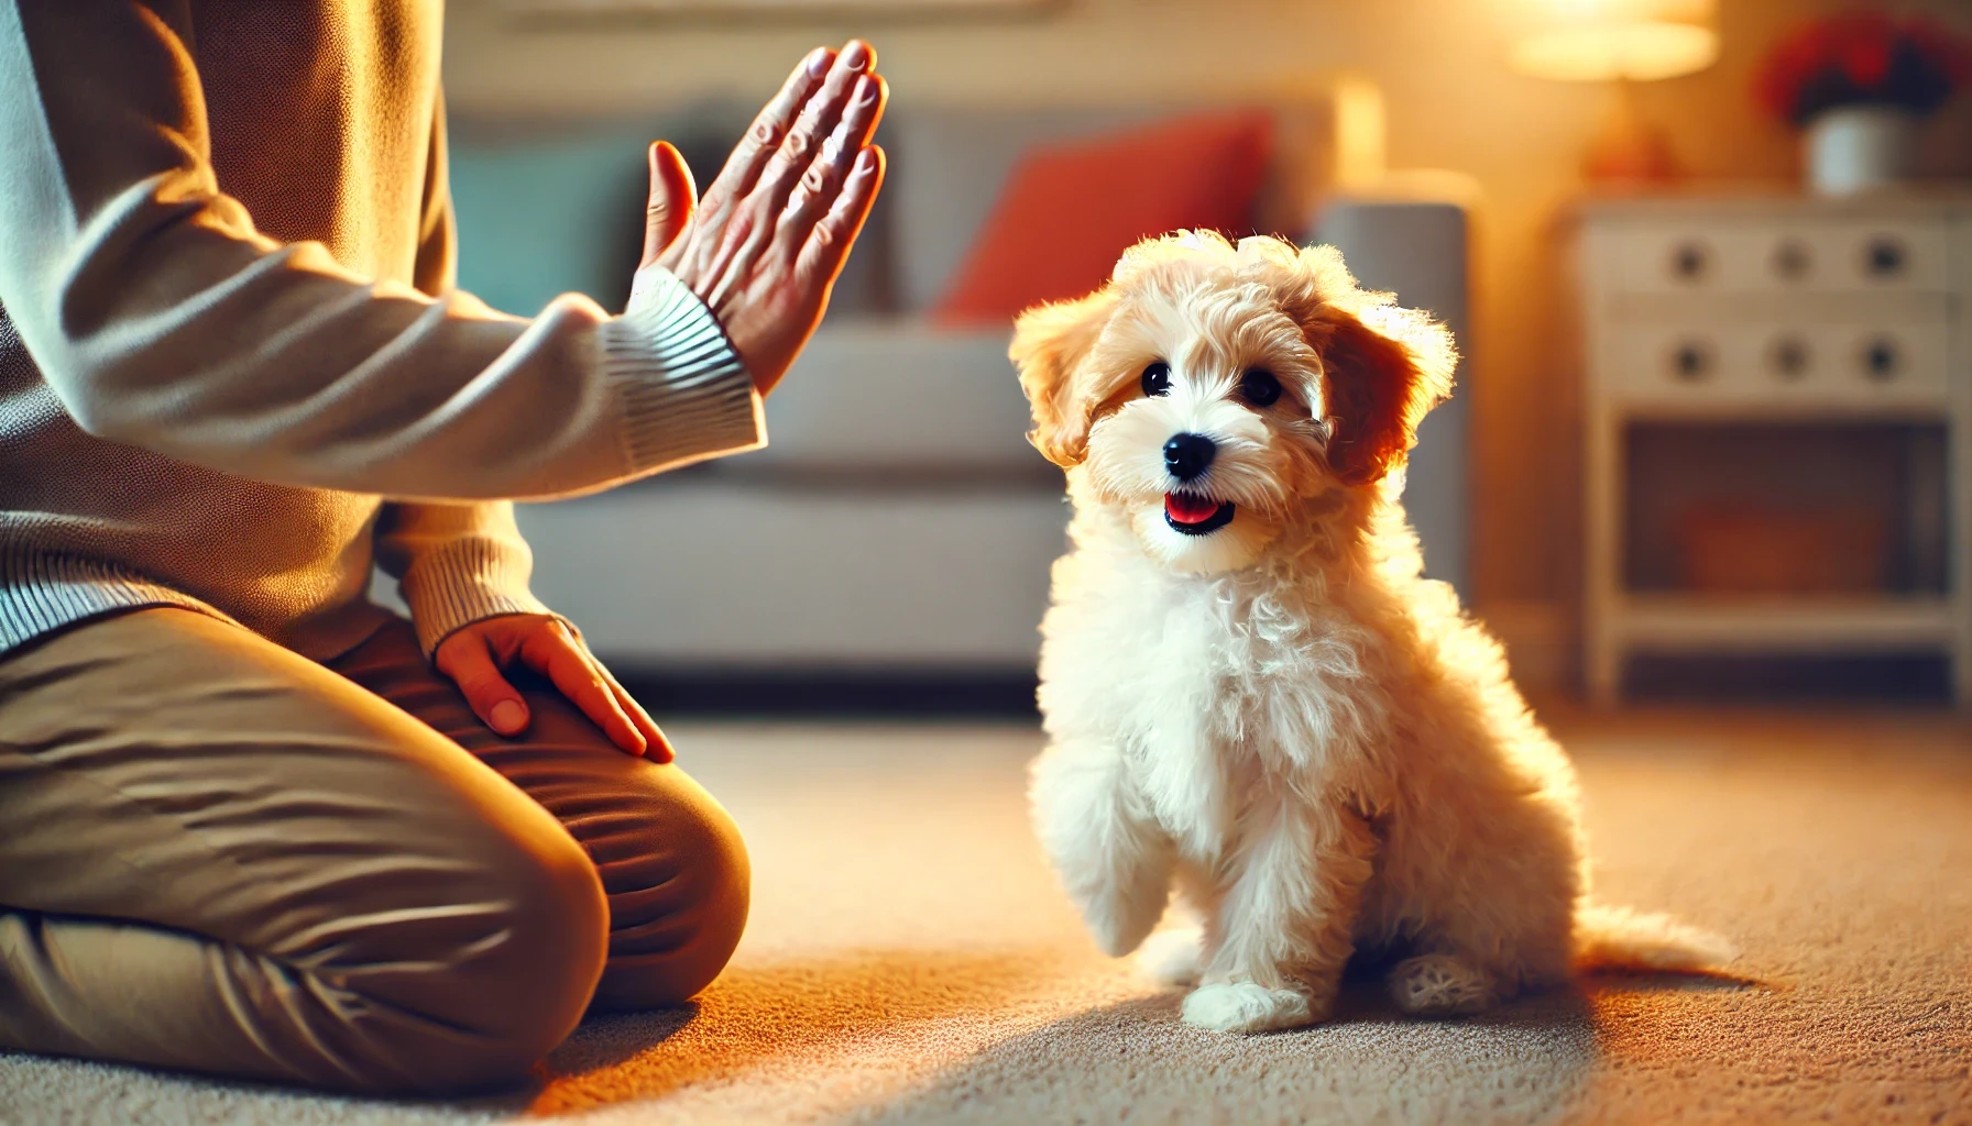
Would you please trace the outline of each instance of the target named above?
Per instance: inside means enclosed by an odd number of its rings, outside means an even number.
[[[702,199],[653,146],[623,314],[519,319],[452,284],[440,20],[0,4],[0,1049],[467,1091],[740,939],[509,501],[763,442],[885,85],[816,49]]]

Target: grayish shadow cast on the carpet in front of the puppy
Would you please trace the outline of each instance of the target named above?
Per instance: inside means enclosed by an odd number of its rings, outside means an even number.
[[[1743,990],[1731,978],[1597,978],[1497,1012],[1406,1018],[1345,988],[1321,1025],[1238,1037],[1179,1021],[1181,994],[1138,998],[996,1043],[858,1114],[901,1122],[1540,1122],[1587,1092],[1603,1059],[1597,998]]]

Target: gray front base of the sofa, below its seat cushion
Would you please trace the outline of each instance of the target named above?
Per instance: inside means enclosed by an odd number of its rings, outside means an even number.
[[[617,665],[1031,669],[1053,489],[870,491],[676,473],[521,505],[534,594]]]

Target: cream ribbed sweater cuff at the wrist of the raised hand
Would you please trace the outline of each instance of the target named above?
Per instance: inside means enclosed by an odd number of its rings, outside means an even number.
[[[631,471],[736,454],[767,440],[753,379],[712,310],[670,270],[637,272],[629,308],[601,325],[601,347],[623,398]]]

